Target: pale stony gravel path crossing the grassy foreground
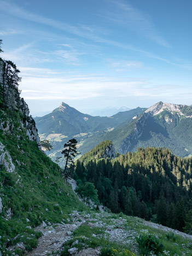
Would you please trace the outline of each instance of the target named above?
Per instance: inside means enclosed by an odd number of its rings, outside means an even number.
[[[74,211],[71,215],[73,224],[55,224],[53,226],[43,226],[43,224],[36,228],[37,231],[41,231],[43,236],[38,240],[38,246],[36,249],[33,249],[31,253],[28,253],[28,256],[44,256],[44,255],[60,255],[62,250],[63,243],[72,238],[72,231],[77,229],[80,225],[86,224],[92,227],[104,228],[104,236],[109,241],[116,241],[124,245],[132,245],[133,251],[137,252],[135,246],[135,236],[138,235],[138,232],[135,230],[125,230],[126,219],[119,218],[113,219],[112,214],[102,212],[96,213],[95,217],[92,218],[91,214],[80,215],[77,211]],[[81,220],[79,222],[79,219]],[[110,219],[111,224],[107,224],[107,219]],[[183,236],[184,238],[190,238],[192,236],[185,234],[183,232],[167,228],[159,224],[152,222],[147,222],[142,220],[142,224],[158,230],[164,230],[166,232],[173,232],[174,234]],[[45,225],[45,224],[44,224]],[[80,252],[71,253],[71,255],[77,256],[97,256],[100,254],[101,248],[84,248]],[[76,249],[77,250],[77,249]]]

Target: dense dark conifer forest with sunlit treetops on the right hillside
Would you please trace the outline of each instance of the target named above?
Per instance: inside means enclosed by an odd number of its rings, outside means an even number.
[[[95,152],[99,156],[107,144],[99,144],[77,161],[75,178],[94,183],[100,202],[114,213],[151,219],[192,234],[192,158],[178,158],[165,148],[95,158]]]

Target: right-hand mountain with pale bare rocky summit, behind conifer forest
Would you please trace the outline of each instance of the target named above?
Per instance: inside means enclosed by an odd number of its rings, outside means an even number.
[[[138,147],[165,147],[178,156],[188,156],[192,154],[191,117],[191,106],[158,102],[129,124],[109,132],[107,138],[123,154]],[[119,138],[119,134],[126,136]]]

